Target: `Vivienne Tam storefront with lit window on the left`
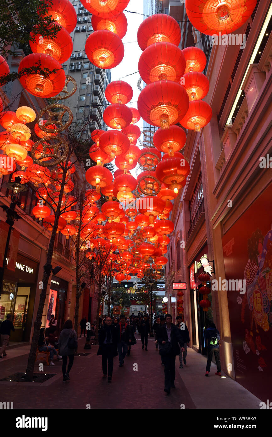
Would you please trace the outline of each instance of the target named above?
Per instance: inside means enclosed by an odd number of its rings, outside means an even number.
[[[38,263],[17,254],[14,271],[4,274],[3,292],[0,298],[0,323],[11,314],[15,332],[11,341],[29,341],[35,302]]]

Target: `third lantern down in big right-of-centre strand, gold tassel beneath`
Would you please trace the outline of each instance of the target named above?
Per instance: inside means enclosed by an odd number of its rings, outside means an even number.
[[[138,98],[138,109],[141,117],[152,126],[169,129],[187,112],[188,94],[176,82],[162,80],[147,85]],[[183,114],[180,117],[180,114]]]

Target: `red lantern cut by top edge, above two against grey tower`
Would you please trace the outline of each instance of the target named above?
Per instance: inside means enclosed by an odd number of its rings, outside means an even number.
[[[123,12],[129,0],[83,0],[82,4],[91,14],[112,18]]]

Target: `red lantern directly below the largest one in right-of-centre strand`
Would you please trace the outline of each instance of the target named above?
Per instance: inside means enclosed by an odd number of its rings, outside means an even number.
[[[183,149],[186,143],[186,134],[179,126],[170,126],[169,129],[158,129],[153,135],[153,144],[161,152],[174,156],[174,152]]]

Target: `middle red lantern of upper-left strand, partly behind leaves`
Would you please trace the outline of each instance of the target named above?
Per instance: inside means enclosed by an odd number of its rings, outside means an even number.
[[[69,32],[62,26],[59,27],[55,38],[49,36],[41,38],[42,35],[32,32],[30,36],[32,41],[29,41],[29,45],[33,53],[44,53],[45,55],[52,56],[60,64],[66,62],[73,52],[72,38]]]

